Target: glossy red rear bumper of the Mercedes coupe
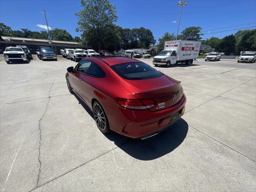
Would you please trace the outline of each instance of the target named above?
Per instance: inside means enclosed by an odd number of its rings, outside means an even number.
[[[110,129],[130,138],[146,138],[176,123],[184,114],[185,104],[184,94],[176,105],[164,110],[152,112],[119,108],[119,114],[109,121]]]

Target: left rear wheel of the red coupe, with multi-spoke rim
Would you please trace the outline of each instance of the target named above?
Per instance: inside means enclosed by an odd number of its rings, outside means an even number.
[[[110,131],[107,115],[98,101],[95,101],[92,105],[92,112],[97,127],[102,133]]]

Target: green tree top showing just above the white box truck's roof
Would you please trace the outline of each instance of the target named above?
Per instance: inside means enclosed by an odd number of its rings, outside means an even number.
[[[200,40],[202,39],[200,35],[203,35],[201,33],[201,30],[201,27],[187,27],[185,30],[181,32],[181,34],[178,36],[178,39],[192,41]]]

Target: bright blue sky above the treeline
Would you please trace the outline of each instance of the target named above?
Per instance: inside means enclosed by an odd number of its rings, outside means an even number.
[[[165,32],[176,35],[180,16],[177,2],[110,0],[116,6],[115,24],[122,28],[150,29],[156,40]],[[75,16],[82,9],[80,0],[0,0],[0,22],[12,30],[46,30],[44,9],[50,28],[66,29],[73,37],[80,36],[81,32],[76,32],[79,18]],[[202,39],[223,38],[240,28],[256,28],[256,0],[188,0],[182,8],[179,33],[190,26],[202,27]],[[220,32],[225,30],[230,31]]]

